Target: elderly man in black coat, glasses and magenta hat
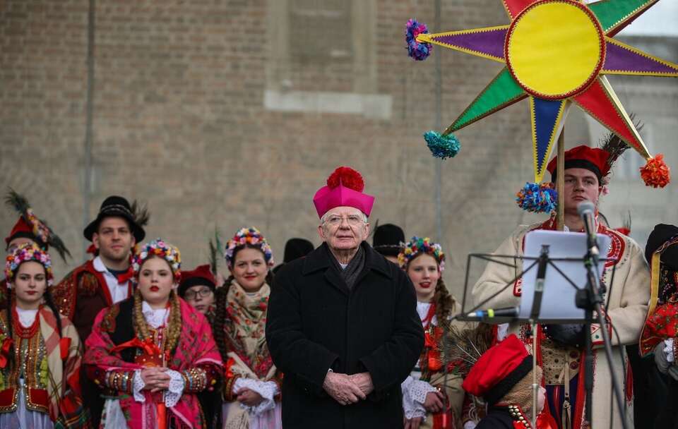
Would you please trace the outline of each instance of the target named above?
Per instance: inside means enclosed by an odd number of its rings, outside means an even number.
[[[266,340],[284,428],[402,428],[400,382],[424,346],[415,290],[364,240],[374,198],[338,168],[314,197],[323,244],[280,268]]]

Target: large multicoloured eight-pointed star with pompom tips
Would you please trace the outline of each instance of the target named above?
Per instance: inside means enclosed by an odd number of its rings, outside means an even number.
[[[652,157],[605,75],[678,77],[678,65],[614,40],[614,35],[659,0],[502,0],[511,24],[429,34],[408,22],[410,56],[425,59],[432,44],[504,64],[498,75],[443,132],[424,135],[435,156],[459,150],[453,131],[527,98],[532,123],[535,182],[542,181],[554,142],[572,103],[647,161],[641,176],[663,187],[669,170]]]

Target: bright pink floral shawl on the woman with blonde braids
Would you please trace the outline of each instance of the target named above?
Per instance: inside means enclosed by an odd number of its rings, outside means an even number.
[[[179,300],[182,311],[182,333],[174,355],[167,363],[172,370],[182,371],[194,368],[197,365],[215,365],[222,368],[222,360],[212,337],[212,330],[203,315],[189,306],[184,300]],[[120,352],[110,350],[116,346],[110,334],[115,330],[115,318],[119,312],[119,304],[100,311],[94,321],[92,334],[87,339],[85,365],[95,365],[101,370],[137,370],[141,365],[126,362]],[[131,395],[122,394],[120,406],[127,418],[130,429],[150,428],[155,425],[153,399],[146,390],[142,391],[146,397],[144,402],[137,402]],[[201,412],[198,397],[195,394],[184,392],[179,402],[168,409],[173,418],[182,421],[189,428],[201,428]],[[168,413],[168,418],[169,418]]]

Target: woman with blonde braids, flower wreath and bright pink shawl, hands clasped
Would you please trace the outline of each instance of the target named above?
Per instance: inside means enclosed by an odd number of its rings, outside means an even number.
[[[102,428],[207,428],[196,394],[218,387],[210,325],[174,291],[179,249],[160,238],[133,258],[137,288],[101,310],[87,339],[88,375],[107,398]]]

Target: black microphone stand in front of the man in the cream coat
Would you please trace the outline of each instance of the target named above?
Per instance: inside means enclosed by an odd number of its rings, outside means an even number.
[[[593,231],[595,234],[595,231]],[[593,236],[595,237],[595,235]],[[619,414],[622,417],[622,428],[629,429],[626,423],[626,416],[624,415],[624,399],[622,391],[619,389],[619,380],[617,374],[614,373],[612,363],[612,342],[607,332],[607,323],[602,315],[602,293],[605,293],[605,285],[600,285],[600,279],[597,275],[598,251],[595,238],[588,241],[588,251],[584,256],[584,266],[586,267],[586,283],[585,289],[580,289],[576,293],[576,306],[583,308],[585,313],[584,322],[584,349],[586,353],[584,361],[584,386],[586,390],[586,404],[585,404],[585,420],[589,427],[592,425],[592,411],[593,411],[593,343],[591,342],[591,322],[593,321],[593,310],[597,313],[597,322],[600,325],[600,332],[602,333],[602,340],[605,343],[605,357],[607,358],[607,365],[609,366],[609,373],[612,378],[612,390],[614,397],[617,399],[617,406],[619,407]],[[568,381],[566,381],[568,382]],[[580,399],[578,399],[580,400]]]

